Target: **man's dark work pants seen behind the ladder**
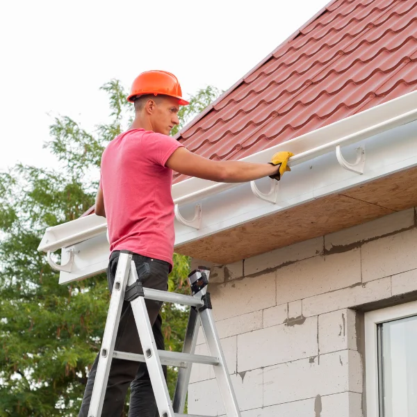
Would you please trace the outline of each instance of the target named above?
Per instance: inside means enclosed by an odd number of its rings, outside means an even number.
[[[119,254],[119,251],[113,252],[108,263],[107,281],[110,291],[113,291]],[[144,262],[149,263],[151,275],[142,281],[144,287],[167,291],[168,273],[170,271],[169,263],[159,261],[158,259],[150,259],[138,254],[133,254],[133,261],[135,261],[136,268],[139,268]],[[151,321],[152,330],[154,332],[156,347],[163,350],[165,346],[161,331],[162,318],[159,314],[162,302],[152,300],[145,300],[145,302],[149,313],[149,320]],[[115,350],[143,353],[130,302],[125,301],[123,303],[122,315],[120,316],[120,324],[117,330]],[[88,408],[90,407],[92,387],[94,386],[98,362],[99,354],[88,375],[88,382],[87,386],[85,386],[79,417],[88,417]],[[166,379],[166,366],[163,366],[163,372]],[[146,364],[144,362],[125,361],[123,359],[113,359],[111,363],[101,416],[120,417],[122,415],[129,384],[131,386],[129,417],[158,416],[158,409],[156,407]]]

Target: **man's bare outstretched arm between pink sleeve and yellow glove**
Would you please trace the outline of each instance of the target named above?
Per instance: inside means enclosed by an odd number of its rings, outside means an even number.
[[[179,147],[166,164],[180,174],[218,182],[247,182],[277,174],[279,166],[243,161],[211,161]]]

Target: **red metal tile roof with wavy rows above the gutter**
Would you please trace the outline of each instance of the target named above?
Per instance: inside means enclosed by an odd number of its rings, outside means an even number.
[[[178,139],[206,158],[240,159],[413,90],[417,0],[336,0]]]

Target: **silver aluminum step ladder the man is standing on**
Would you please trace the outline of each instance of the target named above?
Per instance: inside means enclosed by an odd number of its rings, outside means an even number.
[[[206,291],[210,270],[199,267],[188,275],[188,282],[193,295],[168,293],[167,291],[142,287],[140,279],[149,272],[149,264],[143,263],[139,270],[140,277],[138,277],[136,265],[132,260],[132,253],[129,251],[120,252],[88,416],[101,416],[111,361],[113,358],[117,358],[146,362],[156,405],[161,417],[185,416],[183,410],[186,404],[192,364],[212,365],[227,416],[240,417],[236,395],[231,385],[229,371],[211,313],[210,294]],[[145,299],[191,306],[182,353],[156,349]],[[144,354],[114,350],[124,300],[131,303]],[[211,356],[194,354],[200,324]],[[179,366],[173,401],[170,400],[162,365]]]

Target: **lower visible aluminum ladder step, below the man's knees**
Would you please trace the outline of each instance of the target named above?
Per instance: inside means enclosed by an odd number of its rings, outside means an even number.
[[[202,354],[190,354],[181,352],[171,352],[170,350],[158,350],[159,359],[163,365],[179,366],[179,368],[186,368],[188,363],[202,363],[203,365],[219,364],[219,359],[216,357],[209,357]],[[145,356],[143,354],[120,352],[115,350],[113,352],[113,358],[125,359],[126,361],[145,362]]]

